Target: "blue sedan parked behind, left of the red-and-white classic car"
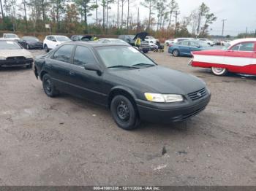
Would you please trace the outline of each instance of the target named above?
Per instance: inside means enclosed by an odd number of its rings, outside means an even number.
[[[191,56],[192,51],[208,50],[212,47],[206,42],[201,42],[197,40],[186,40],[181,41],[176,44],[170,44],[168,52],[173,54],[173,56],[187,55]]]

